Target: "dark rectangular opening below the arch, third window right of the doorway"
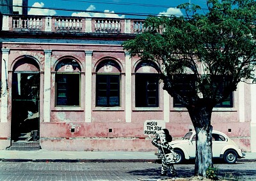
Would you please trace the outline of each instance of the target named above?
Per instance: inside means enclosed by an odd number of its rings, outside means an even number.
[[[159,76],[156,73],[136,73],[135,106],[159,106]]]

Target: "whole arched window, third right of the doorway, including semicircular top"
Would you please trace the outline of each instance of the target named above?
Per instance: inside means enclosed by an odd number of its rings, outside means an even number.
[[[153,62],[140,62],[135,69],[135,106],[159,106],[159,75]]]

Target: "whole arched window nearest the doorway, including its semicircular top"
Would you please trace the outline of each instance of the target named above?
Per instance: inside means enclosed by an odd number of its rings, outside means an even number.
[[[74,59],[64,59],[55,68],[56,106],[80,105],[81,67]]]

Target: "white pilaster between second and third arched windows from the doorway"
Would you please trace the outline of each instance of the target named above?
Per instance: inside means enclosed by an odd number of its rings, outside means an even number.
[[[125,122],[132,121],[132,60],[125,52]]]

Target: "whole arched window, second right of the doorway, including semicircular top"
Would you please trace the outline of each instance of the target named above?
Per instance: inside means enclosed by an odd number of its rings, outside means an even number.
[[[120,66],[112,60],[100,62],[96,69],[96,106],[120,106]]]

